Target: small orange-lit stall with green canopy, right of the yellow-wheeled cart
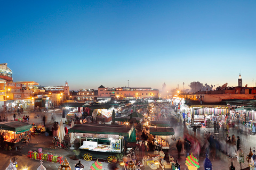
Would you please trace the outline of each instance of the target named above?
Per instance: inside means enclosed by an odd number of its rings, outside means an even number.
[[[170,127],[157,127],[150,126],[149,134],[155,135],[155,149],[158,147],[162,147],[162,149],[170,149],[169,143],[171,141],[171,135],[174,135],[173,128]]]

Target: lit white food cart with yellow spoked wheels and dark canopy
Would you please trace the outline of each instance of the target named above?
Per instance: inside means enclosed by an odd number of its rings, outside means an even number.
[[[80,154],[86,161],[100,158],[109,163],[124,152],[124,137],[130,138],[132,131],[130,126],[91,123],[75,125],[68,130],[79,138]]]

